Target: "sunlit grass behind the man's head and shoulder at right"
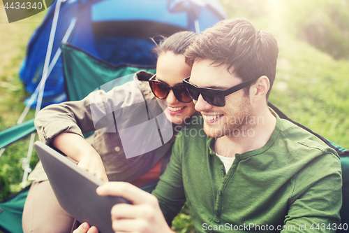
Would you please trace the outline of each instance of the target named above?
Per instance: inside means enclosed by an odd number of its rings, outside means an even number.
[[[279,59],[269,101],[292,120],[349,148],[349,60],[336,60],[296,38],[293,20],[299,8],[291,7],[292,1],[221,2],[229,17],[246,17],[278,41]]]

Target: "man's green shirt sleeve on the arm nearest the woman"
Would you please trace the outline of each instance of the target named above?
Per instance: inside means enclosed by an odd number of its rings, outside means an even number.
[[[172,147],[170,162],[156,189],[152,192],[158,198],[163,216],[168,225],[172,225],[172,220],[186,202],[181,170],[181,148],[183,139],[177,137]]]

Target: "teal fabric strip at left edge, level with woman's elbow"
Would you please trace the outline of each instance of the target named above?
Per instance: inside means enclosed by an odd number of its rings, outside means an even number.
[[[27,120],[20,125],[15,125],[0,132],[0,149],[34,132],[34,119]]]

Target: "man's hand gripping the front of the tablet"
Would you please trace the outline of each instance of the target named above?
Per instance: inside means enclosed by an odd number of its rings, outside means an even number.
[[[105,183],[98,187],[96,192],[101,196],[124,197],[132,203],[116,204],[112,207],[114,232],[172,232],[154,195],[124,182]]]

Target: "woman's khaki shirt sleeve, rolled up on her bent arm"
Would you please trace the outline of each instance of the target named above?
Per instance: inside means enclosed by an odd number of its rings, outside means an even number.
[[[115,132],[115,111],[144,102],[142,91],[134,80],[109,92],[96,90],[80,101],[52,104],[39,111],[34,121],[39,139],[50,144],[62,132],[86,134],[101,129]]]

